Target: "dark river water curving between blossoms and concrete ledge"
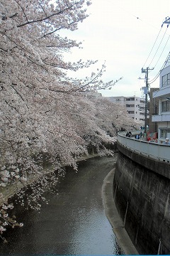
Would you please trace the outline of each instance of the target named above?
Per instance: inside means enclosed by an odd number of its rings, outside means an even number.
[[[49,204],[40,213],[18,208],[24,226],[8,233],[0,255],[122,255],[101,196],[114,165],[114,157],[81,162],[77,173],[67,170],[57,193],[46,195]]]

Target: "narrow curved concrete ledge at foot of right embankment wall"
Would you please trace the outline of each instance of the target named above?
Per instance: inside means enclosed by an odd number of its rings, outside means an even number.
[[[113,199],[113,177],[115,169],[111,170],[103,181],[102,186],[102,198],[103,205],[106,210],[106,216],[112,225],[113,233],[117,239],[118,245],[125,253],[125,255],[139,255],[135,246],[132,244],[128,233],[126,232],[123,220],[118,214],[118,210],[115,207]]]

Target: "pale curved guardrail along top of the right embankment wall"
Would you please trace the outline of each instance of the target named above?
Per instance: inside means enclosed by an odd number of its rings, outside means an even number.
[[[137,134],[138,131],[132,131]],[[170,145],[158,144],[154,142],[145,142],[135,137],[126,137],[126,132],[118,132],[118,143],[137,154],[170,163]]]

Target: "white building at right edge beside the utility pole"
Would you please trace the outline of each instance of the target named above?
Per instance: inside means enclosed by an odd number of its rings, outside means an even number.
[[[159,90],[153,93],[159,99],[159,114],[152,116],[152,122],[158,124],[158,139],[162,143],[166,137],[170,139],[170,63],[161,70]]]

